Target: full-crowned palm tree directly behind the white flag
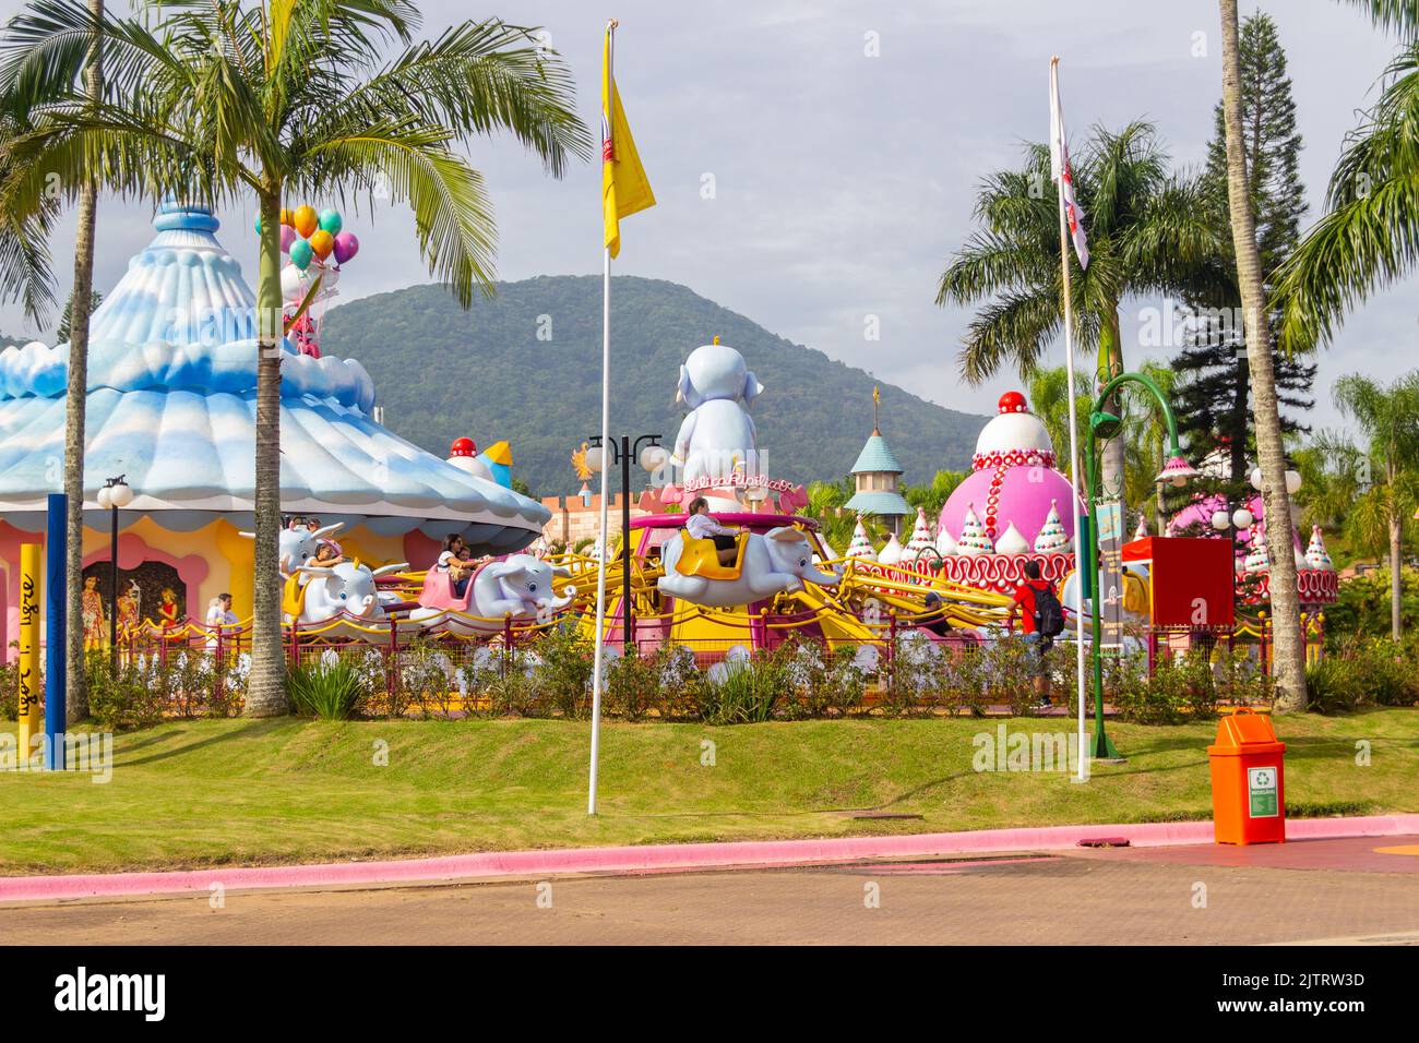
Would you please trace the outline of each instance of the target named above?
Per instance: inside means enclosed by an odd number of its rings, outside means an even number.
[[[966,331],[961,372],[971,383],[1013,362],[1027,377],[1063,325],[1059,210],[1050,153],[1026,148],[1025,166],[985,179],[976,197],[981,228],[951,260],[938,305],[981,304]],[[1095,128],[1078,158],[1074,186],[1088,230],[1088,268],[1071,255],[1076,343],[1097,349],[1100,383],[1124,369],[1118,309],[1134,294],[1182,294],[1210,285],[1219,241],[1196,182],[1172,176],[1151,123]],[[983,304],[982,304],[983,302]],[[1121,409],[1112,403],[1114,412]],[[1087,410],[1086,410],[1087,414]],[[1124,494],[1124,444],[1104,450],[1103,490]]]

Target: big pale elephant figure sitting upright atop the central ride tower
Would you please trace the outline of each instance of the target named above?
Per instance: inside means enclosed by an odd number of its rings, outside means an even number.
[[[675,400],[690,406],[680,424],[671,463],[683,481],[728,478],[736,465],[758,473],[758,448],[749,404],[763,385],[734,348],[707,343],[690,352],[680,368]]]

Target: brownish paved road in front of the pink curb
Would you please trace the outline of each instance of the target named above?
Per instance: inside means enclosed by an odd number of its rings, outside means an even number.
[[[1384,849],[1384,850],[1376,850]],[[1229,864],[1230,863],[1230,864]],[[6,944],[1419,944],[1419,837],[0,908]]]

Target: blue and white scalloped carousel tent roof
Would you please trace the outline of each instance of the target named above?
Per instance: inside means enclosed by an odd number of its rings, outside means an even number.
[[[255,487],[255,295],[203,207],[160,207],[158,236],[94,312],[85,508],[126,475],[131,512],[170,529],[221,514],[248,524]],[[551,512],[400,438],[370,417],[375,386],[353,359],[281,345],[281,504],[397,535],[467,534],[488,551],[531,542]],[[41,525],[64,458],[68,348],[0,353],[0,512]]]

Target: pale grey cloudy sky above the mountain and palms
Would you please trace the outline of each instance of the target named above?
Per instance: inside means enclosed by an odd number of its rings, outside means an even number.
[[[1061,58],[1071,139],[1091,123],[1149,119],[1183,169],[1205,159],[1222,89],[1215,0],[420,7],[424,35],[465,17],[543,27],[543,41],[576,78],[578,108],[593,133],[602,27],[616,16],[616,78],[658,206],[623,223],[614,272],[681,282],[790,341],[978,413],[993,413],[1020,380],[1013,372],[979,387],[959,379],[971,312],[938,308],[935,284],[973,227],[981,177],[1016,163],[1022,142],[1047,138],[1050,55]],[[1308,223],[1320,214],[1344,135],[1374,102],[1398,44],[1352,4],[1242,3],[1243,17],[1257,9],[1276,18],[1290,61]],[[17,10],[0,0],[0,17]],[[597,163],[555,180],[508,138],[478,139],[470,155],[495,206],[499,278],[600,272]],[[150,217],[149,204],[104,202],[96,288],[111,287],[146,244]],[[254,280],[254,209],[221,217],[224,244]],[[342,275],[345,299],[430,281],[407,210],[346,206],[345,217],[363,244]],[[71,237],[72,216],[54,241],[62,292]],[[1318,359],[1313,424],[1341,426],[1330,399],[1338,376],[1358,370],[1388,380],[1415,365],[1415,285],[1382,291],[1348,318]],[[1158,304],[1124,307],[1130,363],[1174,353],[1139,343],[1147,309]],[[14,307],[0,309],[0,331],[53,339]],[[704,341],[714,332],[704,331]],[[1063,346],[1049,358],[1063,362]]]

